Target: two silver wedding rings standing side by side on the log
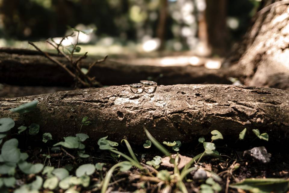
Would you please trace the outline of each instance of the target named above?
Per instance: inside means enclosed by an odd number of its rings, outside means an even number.
[[[157,83],[154,81],[140,81],[140,83],[130,84],[129,87],[135,94],[140,94],[142,92],[154,93],[157,89]]]

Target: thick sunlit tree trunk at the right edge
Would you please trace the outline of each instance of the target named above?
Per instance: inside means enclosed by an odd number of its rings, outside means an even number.
[[[231,70],[237,70],[238,76],[241,72],[246,85],[289,89],[289,6],[271,0],[264,5]],[[234,55],[229,62],[232,58]]]

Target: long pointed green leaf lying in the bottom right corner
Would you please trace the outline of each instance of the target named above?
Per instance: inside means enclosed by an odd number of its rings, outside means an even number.
[[[258,193],[282,193],[288,190],[288,180],[278,178],[244,179],[242,182],[229,185],[231,188],[240,188]]]

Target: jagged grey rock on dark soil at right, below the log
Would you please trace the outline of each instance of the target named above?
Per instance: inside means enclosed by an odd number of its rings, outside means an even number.
[[[258,160],[262,163],[269,163],[271,154],[267,153],[267,150],[264,146],[254,147],[253,149],[244,151],[243,157],[251,157],[254,160]]]

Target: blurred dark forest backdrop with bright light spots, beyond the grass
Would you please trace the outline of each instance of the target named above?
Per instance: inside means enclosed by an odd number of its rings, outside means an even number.
[[[67,26],[81,24],[97,28],[90,44],[109,37],[102,43],[142,43],[146,52],[212,46],[223,55],[244,35],[258,5],[256,0],[1,0],[0,46],[61,37]]]

